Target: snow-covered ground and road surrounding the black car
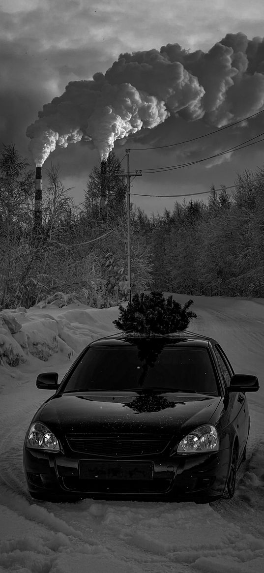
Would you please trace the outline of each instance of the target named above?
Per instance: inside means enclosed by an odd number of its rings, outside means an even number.
[[[188,299],[176,298],[180,303]],[[50,395],[37,390],[36,376],[58,371],[61,378],[76,352],[115,331],[112,320],[118,310],[53,305],[13,311],[11,320],[9,311],[2,322],[0,313],[0,351],[19,361],[15,367],[0,367],[1,573],[264,570],[264,301],[193,299],[198,320],[190,330],[215,337],[235,371],[257,374],[261,383],[258,393],[248,395],[249,456],[235,497],[211,505],[30,500],[22,444],[31,417]]]

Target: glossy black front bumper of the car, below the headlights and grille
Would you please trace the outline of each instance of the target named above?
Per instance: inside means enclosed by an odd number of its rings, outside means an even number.
[[[67,457],[61,453],[45,452],[26,448],[23,452],[23,464],[27,488],[37,497],[148,497],[159,499],[206,501],[222,496],[231,450],[224,449],[209,454],[171,456],[167,458],[145,456],[144,458],[119,459],[119,465],[146,462],[153,466],[151,478],[115,479],[100,476],[81,478],[80,462],[105,462],[116,464],[117,460],[94,460],[94,457],[78,454]]]

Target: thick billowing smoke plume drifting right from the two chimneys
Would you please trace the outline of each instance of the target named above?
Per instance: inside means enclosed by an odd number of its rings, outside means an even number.
[[[227,34],[208,53],[179,44],[121,54],[105,74],[72,81],[26,131],[41,166],[56,146],[89,140],[106,159],[117,139],[170,116],[216,128],[264,107],[264,41]],[[175,134],[176,135],[176,134]],[[167,143],[167,142],[164,142]]]

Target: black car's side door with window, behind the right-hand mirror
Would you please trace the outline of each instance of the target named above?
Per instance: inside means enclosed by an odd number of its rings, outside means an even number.
[[[215,344],[214,351],[223,382],[225,386],[230,386],[231,376],[234,374],[233,368],[219,344]],[[246,446],[249,431],[249,410],[247,408],[245,393],[231,392],[228,395],[228,399],[230,401],[230,422],[233,423],[235,429],[238,431],[240,457]]]

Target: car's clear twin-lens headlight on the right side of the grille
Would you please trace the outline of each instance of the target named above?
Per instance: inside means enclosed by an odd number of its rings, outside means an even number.
[[[218,432],[214,426],[207,425],[200,426],[184,436],[176,452],[178,454],[199,454],[217,452],[218,450]]]

